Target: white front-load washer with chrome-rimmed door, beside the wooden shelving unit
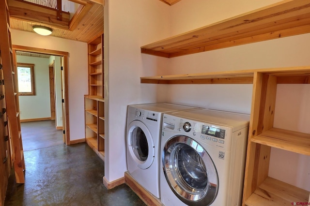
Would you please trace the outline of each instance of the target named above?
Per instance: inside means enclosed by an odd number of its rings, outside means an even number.
[[[208,109],[163,115],[160,194],[165,206],[239,206],[249,115]]]

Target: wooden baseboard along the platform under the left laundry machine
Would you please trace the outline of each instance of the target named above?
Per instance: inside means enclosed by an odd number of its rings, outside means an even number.
[[[125,183],[147,206],[163,206],[160,199],[145,190],[128,172],[125,172]]]

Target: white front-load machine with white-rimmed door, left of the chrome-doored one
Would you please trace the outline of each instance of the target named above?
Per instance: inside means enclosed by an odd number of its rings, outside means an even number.
[[[128,173],[142,187],[160,198],[160,131],[164,112],[197,109],[197,107],[153,103],[128,105],[126,159]]]

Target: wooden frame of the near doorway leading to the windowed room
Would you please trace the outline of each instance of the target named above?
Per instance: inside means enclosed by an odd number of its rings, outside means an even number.
[[[69,124],[69,96],[68,96],[68,57],[69,52],[51,50],[51,49],[43,49],[43,48],[36,48],[31,46],[21,46],[21,45],[12,45],[12,49],[14,54],[16,51],[25,51],[25,52],[33,52],[33,53],[40,53],[40,54],[48,54],[53,56],[60,56],[63,57],[63,93],[64,93],[64,101],[63,101],[63,115],[62,115],[62,130],[64,131],[64,143],[66,145],[70,145],[70,124]],[[13,56],[14,59],[14,66],[16,66],[16,56]]]

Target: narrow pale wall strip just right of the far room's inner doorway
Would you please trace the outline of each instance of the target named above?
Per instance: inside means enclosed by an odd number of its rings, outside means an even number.
[[[61,57],[50,56],[49,64],[54,61],[54,90],[56,106],[56,126],[62,127],[62,77]]]

